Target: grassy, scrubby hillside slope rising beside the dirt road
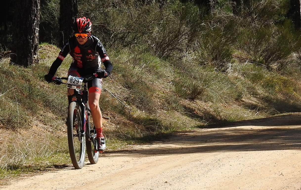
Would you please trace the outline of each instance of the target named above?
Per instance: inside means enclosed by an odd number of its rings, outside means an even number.
[[[66,86],[43,80],[59,49],[42,44],[39,51],[40,63],[26,69],[0,61],[1,178],[70,162]],[[109,151],[170,132],[301,110],[298,76],[253,66],[242,56],[233,57],[233,70],[219,72],[129,49],[108,51],[114,70],[100,104]],[[57,75],[67,74],[70,61]]]

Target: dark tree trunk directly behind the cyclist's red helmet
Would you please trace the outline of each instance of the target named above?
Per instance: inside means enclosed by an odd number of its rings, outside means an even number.
[[[77,17],[77,0],[60,1],[60,47],[73,33],[73,24]]]

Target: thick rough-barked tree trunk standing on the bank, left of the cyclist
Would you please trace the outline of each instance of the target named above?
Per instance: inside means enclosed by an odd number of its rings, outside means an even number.
[[[11,61],[14,64],[28,67],[39,62],[39,0],[17,0],[14,17],[14,55]]]

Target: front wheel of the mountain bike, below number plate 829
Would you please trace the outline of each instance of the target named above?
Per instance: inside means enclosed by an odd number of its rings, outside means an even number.
[[[85,162],[85,136],[79,137],[81,126],[80,104],[77,101],[72,101],[68,109],[67,135],[70,158],[75,169],[81,169]],[[79,147],[75,147],[76,144],[79,145]]]

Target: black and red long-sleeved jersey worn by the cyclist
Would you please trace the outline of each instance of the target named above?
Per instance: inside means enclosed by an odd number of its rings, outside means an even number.
[[[104,64],[108,74],[112,72],[113,66],[107,52],[98,38],[91,35],[85,44],[77,42],[76,37],[70,37],[61,49],[57,59],[50,67],[49,74],[54,75],[64,58],[70,53],[73,58],[72,65],[82,68],[85,73],[92,74],[101,69],[101,62]]]

